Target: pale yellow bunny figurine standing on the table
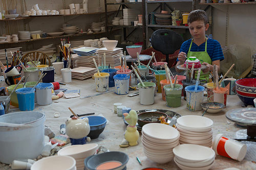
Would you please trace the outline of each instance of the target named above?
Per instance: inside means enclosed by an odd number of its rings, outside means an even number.
[[[137,140],[139,139],[139,132],[137,131],[137,127],[135,126],[137,124],[138,115],[135,110],[131,110],[128,113],[123,113],[124,119],[129,124],[126,127],[126,131],[124,134],[124,138],[129,141],[130,146],[135,146],[138,144]]]

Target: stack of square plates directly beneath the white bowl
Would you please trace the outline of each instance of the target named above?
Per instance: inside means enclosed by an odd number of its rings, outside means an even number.
[[[99,55],[99,62],[101,63],[101,56],[106,55],[105,59],[106,59],[106,64],[109,65],[114,68],[115,66],[120,65],[120,57],[123,56],[123,48],[114,48],[114,50],[106,50],[106,48],[98,48],[97,52]]]

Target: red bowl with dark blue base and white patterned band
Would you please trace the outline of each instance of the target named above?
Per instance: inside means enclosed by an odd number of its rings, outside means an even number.
[[[236,81],[236,90],[239,99],[245,106],[252,105],[256,98],[256,78],[245,78]]]

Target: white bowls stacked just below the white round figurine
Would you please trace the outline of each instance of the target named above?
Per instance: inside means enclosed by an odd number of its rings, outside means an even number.
[[[75,144],[62,148],[58,151],[59,156],[71,156],[76,160],[77,170],[84,169],[84,159],[96,154],[98,149],[97,143]]]

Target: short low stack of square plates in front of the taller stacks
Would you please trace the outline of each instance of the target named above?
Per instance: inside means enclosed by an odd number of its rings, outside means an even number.
[[[74,79],[83,80],[92,77],[95,74],[95,72],[97,72],[96,68],[77,67],[71,70],[71,77]]]

